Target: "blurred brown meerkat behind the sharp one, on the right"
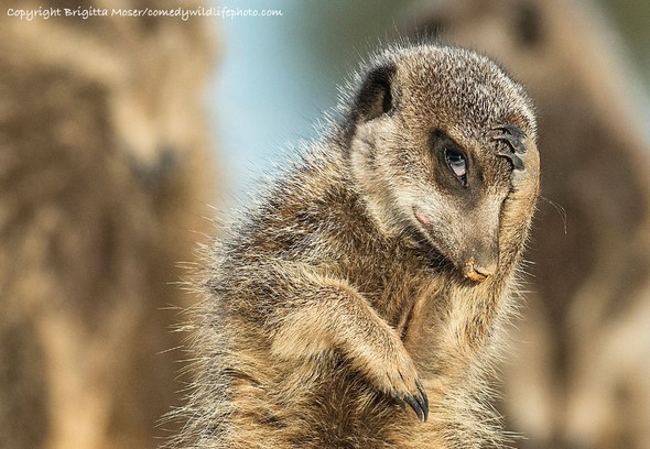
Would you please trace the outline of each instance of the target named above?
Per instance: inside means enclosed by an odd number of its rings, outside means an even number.
[[[565,211],[541,201],[532,232],[529,307],[505,366],[511,427],[535,448],[650,447],[650,164],[611,32],[574,1],[418,11],[420,32],[484,52],[529,88],[542,195]]]

